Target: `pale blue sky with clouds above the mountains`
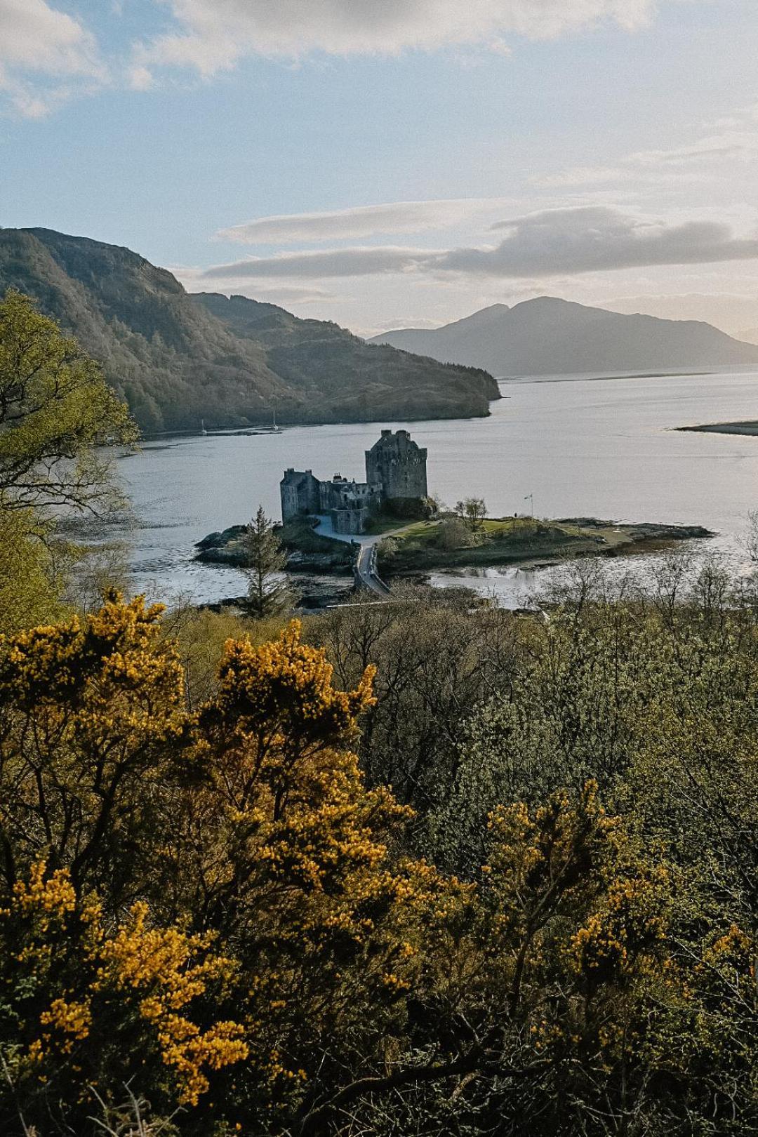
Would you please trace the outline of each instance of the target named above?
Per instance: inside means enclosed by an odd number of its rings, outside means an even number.
[[[0,225],[359,334],[758,341],[757,0],[0,0]]]

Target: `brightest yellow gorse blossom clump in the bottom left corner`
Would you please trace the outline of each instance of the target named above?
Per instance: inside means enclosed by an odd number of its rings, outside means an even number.
[[[197,1105],[208,1071],[248,1055],[240,1023],[193,1018],[198,1001],[210,990],[222,996],[234,972],[211,953],[211,939],[151,924],[144,903],[108,933],[100,906],[77,903],[65,870],[48,874],[36,863],[0,913],[6,1012],[23,1041],[14,1051],[19,1078],[84,1098],[102,1078],[111,1039],[139,1040],[173,1076],[174,1089],[164,1092]]]

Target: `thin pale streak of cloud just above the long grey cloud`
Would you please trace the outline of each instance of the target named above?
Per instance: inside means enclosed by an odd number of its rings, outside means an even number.
[[[502,199],[458,198],[392,201],[324,213],[281,214],[222,229],[216,236],[238,241],[240,244],[286,244],[291,241],[360,240],[381,233],[420,233],[424,230],[455,225],[472,214],[502,204]]]

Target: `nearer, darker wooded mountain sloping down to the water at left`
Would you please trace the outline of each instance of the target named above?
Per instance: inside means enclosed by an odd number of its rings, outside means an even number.
[[[491,375],[377,347],[244,297],[185,292],[119,246],[0,230],[0,296],[34,297],[102,364],[144,431],[457,418],[489,413]]]

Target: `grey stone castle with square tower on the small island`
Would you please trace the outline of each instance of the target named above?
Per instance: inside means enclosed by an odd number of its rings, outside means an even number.
[[[366,450],[366,481],[334,474],[323,482],[313,470],[285,470],[280,483],[282,521],[328,514],[336,533],[364,533],[372,514],[382,505],[426,498],[426,450],[407,430],[382,437]]]

